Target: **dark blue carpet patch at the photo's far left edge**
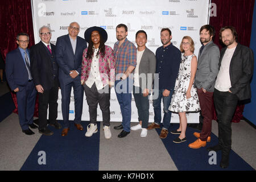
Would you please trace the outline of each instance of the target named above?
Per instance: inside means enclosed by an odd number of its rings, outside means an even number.
[[[11,92],[7,92],[0,97],[0,122],[13,113],[14,109],[15,105],[11,97]]]

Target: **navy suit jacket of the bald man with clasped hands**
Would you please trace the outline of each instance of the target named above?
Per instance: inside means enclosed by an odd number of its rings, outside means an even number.
[[[86,41],[80,36],[77,36],[76,52],[74,54],[73,48],[69,39],[69,35],[63,35],[57,38],[55,56],[59,64],[59,81],[60,85],[66,85],[73,80],[80,82],[82,52],[87,47]],[[69,71],[76,70],[79,76],[73,79],[69,75]]]

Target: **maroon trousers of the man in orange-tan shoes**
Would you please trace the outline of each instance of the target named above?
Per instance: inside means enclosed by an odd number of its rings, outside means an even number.
[[[213,92],[204,93],[202,89],[197,89],[201,113],[204,117],[203,127],[200,133],[200,140],[206,141],[212,132],[213,119]]]

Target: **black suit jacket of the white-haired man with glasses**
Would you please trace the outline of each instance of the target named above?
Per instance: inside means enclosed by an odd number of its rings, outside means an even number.
[[[51,44],[52,54],[48,48],[40,41],[35,46],[31,47],[31,74],[35,85],[42,85],[45,90],[49,90],[54,85],[53,64],[57,64],[55,60],[55,46]],[[58,65],[55,65],[54,69],[58,73]],[[57,77],[58,75],[55,75]]]

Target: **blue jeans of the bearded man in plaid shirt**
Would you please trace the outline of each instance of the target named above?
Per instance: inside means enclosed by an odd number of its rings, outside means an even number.
[[[123,130],[130,132],[131,123],[131,92],[133,90],[133,79],[115,81],[115,94],[122,113]]]

